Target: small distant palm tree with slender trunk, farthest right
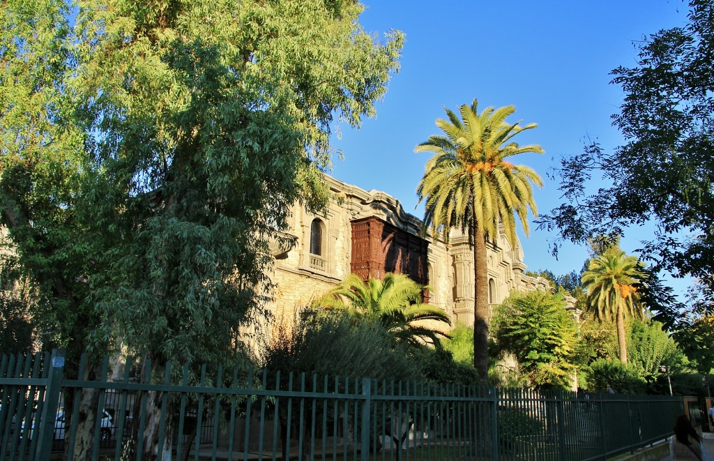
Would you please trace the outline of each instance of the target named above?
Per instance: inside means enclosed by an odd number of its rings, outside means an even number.
[[[642,318],[636,283],[643,278],[642,263],[628,256],[617,245],[590,260],[581,281],[587,290],[586,302],[593,317],[611,322],[615,318],[618,330],[620,362],[627,363],[625,317]]]

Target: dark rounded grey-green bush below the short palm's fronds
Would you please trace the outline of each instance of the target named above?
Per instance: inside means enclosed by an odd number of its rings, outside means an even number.
[[[309,309],[299,315],[293,328],[281,326],[275,330],[263,345],[260,361],[266,369],[283,373],[378,380],[421,376],[413,355],[395,345],[378,323],[355,323],[346,313],[320,315]]]

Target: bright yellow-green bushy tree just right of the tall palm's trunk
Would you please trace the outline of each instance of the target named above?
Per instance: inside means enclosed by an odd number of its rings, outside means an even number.
[[[558,294],[514,293],[498,306],[493,336],[516,356],[527,384],[569,387],[577,327]]]

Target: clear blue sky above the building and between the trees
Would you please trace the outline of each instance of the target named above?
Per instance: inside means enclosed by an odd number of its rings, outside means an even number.
[[[478,98],[480,108],[516,106],[512,121],[538,123],[515,138],[537,143],[545,155],[524,154],[516,163],[535,168],[545,181],[535,191],[542,213],[558,206],[558,181],[548,178],[558,158],[579,151],[583,139],[603,148],[623,143],[610,116],[623,93],[610,84],[610,71],[634,66],[640,43],[659,29],[684,24],[687,5],[675,0],[599,1],[426,1],[363,0],[361,24],[383,34],[406,34],[401,70],[377,105],[376,118],[359,130],[341,126],[333,146],[343,151],[333,176],[366,190],[376,189],[423,217],[416,186],[427,153],[414,147],[439,133],[443,107],[456,109]],[[531,270],[556,275],[579,270],[587,250],[565,244],[556,260],[548,241],[556,235],[536,231],[521,235]],[[632,252],[651,237],[647,228],[630,230],[623,248]],[[688,281],[666,277],[682,292]]]

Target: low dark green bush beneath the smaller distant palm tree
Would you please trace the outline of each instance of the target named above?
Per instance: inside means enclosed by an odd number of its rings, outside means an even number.
[[[583,389],[607,392],[608,385],[618,394],[644,394],[647,389],[645,379],[630,365],[619,360],[595,360],[586,373]]]

